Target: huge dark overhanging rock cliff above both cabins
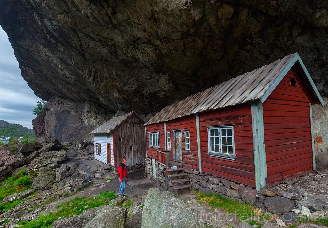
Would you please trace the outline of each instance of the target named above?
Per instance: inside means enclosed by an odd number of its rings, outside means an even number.
[[[59,138],[61,118],[85,131],[117,110],[145,116],[295,52],[327,96],[325,3],[4,0],[0,24],[22,76],[51,103],[34,129]]]

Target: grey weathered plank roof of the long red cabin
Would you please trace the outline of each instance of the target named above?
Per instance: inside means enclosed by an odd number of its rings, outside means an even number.
[[[311,103],[323,106],[324,102],[317,87],[298,53],[295,53],[166,106],[145,125],[248,101],[260,100],[263,103],[292,67],[300,76]]]

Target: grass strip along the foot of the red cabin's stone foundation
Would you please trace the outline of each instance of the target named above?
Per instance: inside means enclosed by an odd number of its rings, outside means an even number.
[[[193,190],[195,193],[196,199],[201,202],[207,202],[213,210],[216,208],[224,208],[227,213],[236,214],[239,220],[244,220],[250,217],[261,218],[261,219],[270,219],[273,215],[265,213],[256,206],[250,205],[248,203],[239,203],[230,198],[222,197],[219,194],[204,194],[200,193],[197,190]]]

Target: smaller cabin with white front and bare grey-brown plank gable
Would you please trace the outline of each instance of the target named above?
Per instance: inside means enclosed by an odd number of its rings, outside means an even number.
[[[121,158],[126,165],[141,164],[146,159],[145,121],[135,112],[113,117],[94,129],[94,158],[117,168]]]

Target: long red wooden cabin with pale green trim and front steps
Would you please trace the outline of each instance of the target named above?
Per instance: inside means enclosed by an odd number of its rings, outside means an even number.
[[[315,170],[312,104],[324,102],[298,53],[288,55],[163,108],[144,125],[146,154],[171,181],[192,168],[269,187]]]

